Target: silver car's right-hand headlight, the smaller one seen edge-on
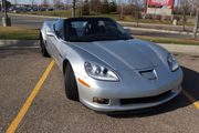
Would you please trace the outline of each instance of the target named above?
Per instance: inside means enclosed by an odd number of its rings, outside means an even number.
[[[168,54],[168,58],[167,58],[167,61],[168,61],[168,65],[169,65],[169,68],[170,68],[170,70],[174,72],[174,71],[176,71],[178,68],[179,68],[179,65],[178,65],[178,62],[177,62],[177,60],[172,57],[172,54]]]

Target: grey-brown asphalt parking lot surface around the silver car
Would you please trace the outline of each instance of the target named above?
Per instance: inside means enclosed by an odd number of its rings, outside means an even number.
[[[139,113],[105,115],[70,101],[63,74],[52,68],[33,103],[19,123],[18,133],[198,133],[199,57],[178,53],[185,79],[175,100]],[[6,132],[50,64],[32,47],[0,48],[0,132]],[[189,98],[189,99],[188,99]]]

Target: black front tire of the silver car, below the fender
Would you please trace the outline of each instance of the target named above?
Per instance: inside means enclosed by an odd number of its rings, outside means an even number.
[[[64,82],[66,98],[73,101],[78,101],[78,90],[76,85],[76,80],[70,63],[67,63],[65,68]]]

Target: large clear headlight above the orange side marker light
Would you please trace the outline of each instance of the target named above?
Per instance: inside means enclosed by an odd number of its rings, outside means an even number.
[[[97,80],[105,80],[105,81],[119,80],[118,76],[112,70],[98,64],[85,62],[85,70],[90,76]]]

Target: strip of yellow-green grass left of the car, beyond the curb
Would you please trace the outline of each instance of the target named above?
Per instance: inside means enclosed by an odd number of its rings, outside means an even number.
[[[15,27],[1,27],[0,39],[4,40],[36,40],[39,39],[38,29],[24,29]]]

